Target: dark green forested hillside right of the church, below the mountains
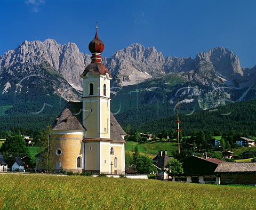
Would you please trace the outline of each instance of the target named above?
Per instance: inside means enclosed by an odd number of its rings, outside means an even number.
[[[236,132],[246,131],[250,134],[256,132],[255,99],[202,111],[182,111],[182,105],[179,119],[181,120],[180,128],[184,135],[190,135],[194,129],[211,133],[215,130],[229,133],[231,129]],[[146,116],[147,113],[150,113],[148,117]],[[130,133],[140,131],[157,134],[164,129],[170,131],[172,128],[174,130],[177,128],[177,110],[174,112],[171,106],[167,112],[165,108],[160,106],[149,107],[148,111],[143,110],[143,108],[134,108],[117,114],[116,118],[123,127],[126,127],[127,124],[131,125]]]

